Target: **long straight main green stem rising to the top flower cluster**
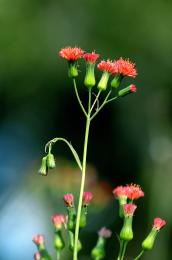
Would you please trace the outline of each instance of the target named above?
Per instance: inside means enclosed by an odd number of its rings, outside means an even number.
[[[83,197],[84,185],[85,185],[87,147],[88,147],[88,136],[89,136],[89,129],[90,129],[90,106],[91,106],[91,90],[89,91],[88,114],[87,114],[86,129],[85,129],[85,140],[84,140],[83,162],[82,162],[82,177],[81,177],[81,186],[80,186],[80,194],[79,194],[79,202],[78,202],[78,210],[77,210],[77,218],[76,218],[73,260],[77,260],[79,222],[80,222],[80,217],[81,217],[82,197]]]

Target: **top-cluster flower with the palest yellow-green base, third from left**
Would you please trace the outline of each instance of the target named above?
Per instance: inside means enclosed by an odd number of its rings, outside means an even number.
[[[116,74],[117,70],[116,67],[114,66],[114,63],[110,60],[104,61],[102,60],[98,65],[97,68],[100,71],[103,71],[102,77],[98,83],[98,89],[99,90],[106,90],[107,88],[107,83],[109,80],[110,74]]]

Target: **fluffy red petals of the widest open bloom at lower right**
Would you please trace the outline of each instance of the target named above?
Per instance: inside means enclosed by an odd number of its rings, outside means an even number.
[[[126,194],[130,200],[137,200],[140,197],[144,197],[144,192],[139,185],[130,184],[126,186]]]

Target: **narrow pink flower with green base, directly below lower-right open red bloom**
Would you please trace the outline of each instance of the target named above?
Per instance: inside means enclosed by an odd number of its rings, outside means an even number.
[[[124,224],[120,232],[121,240],[130,241],[133,239],[132,221],[136,208],[137,206],[134,204],[124,205]]]

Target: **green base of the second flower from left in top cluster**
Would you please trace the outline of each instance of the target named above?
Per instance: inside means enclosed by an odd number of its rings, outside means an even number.
[[[94,75],[95,64],[87,63],[86,64],[86,75],[84,79],[84,85],[88,88],[92,88],[96,84],[95,75]]]

